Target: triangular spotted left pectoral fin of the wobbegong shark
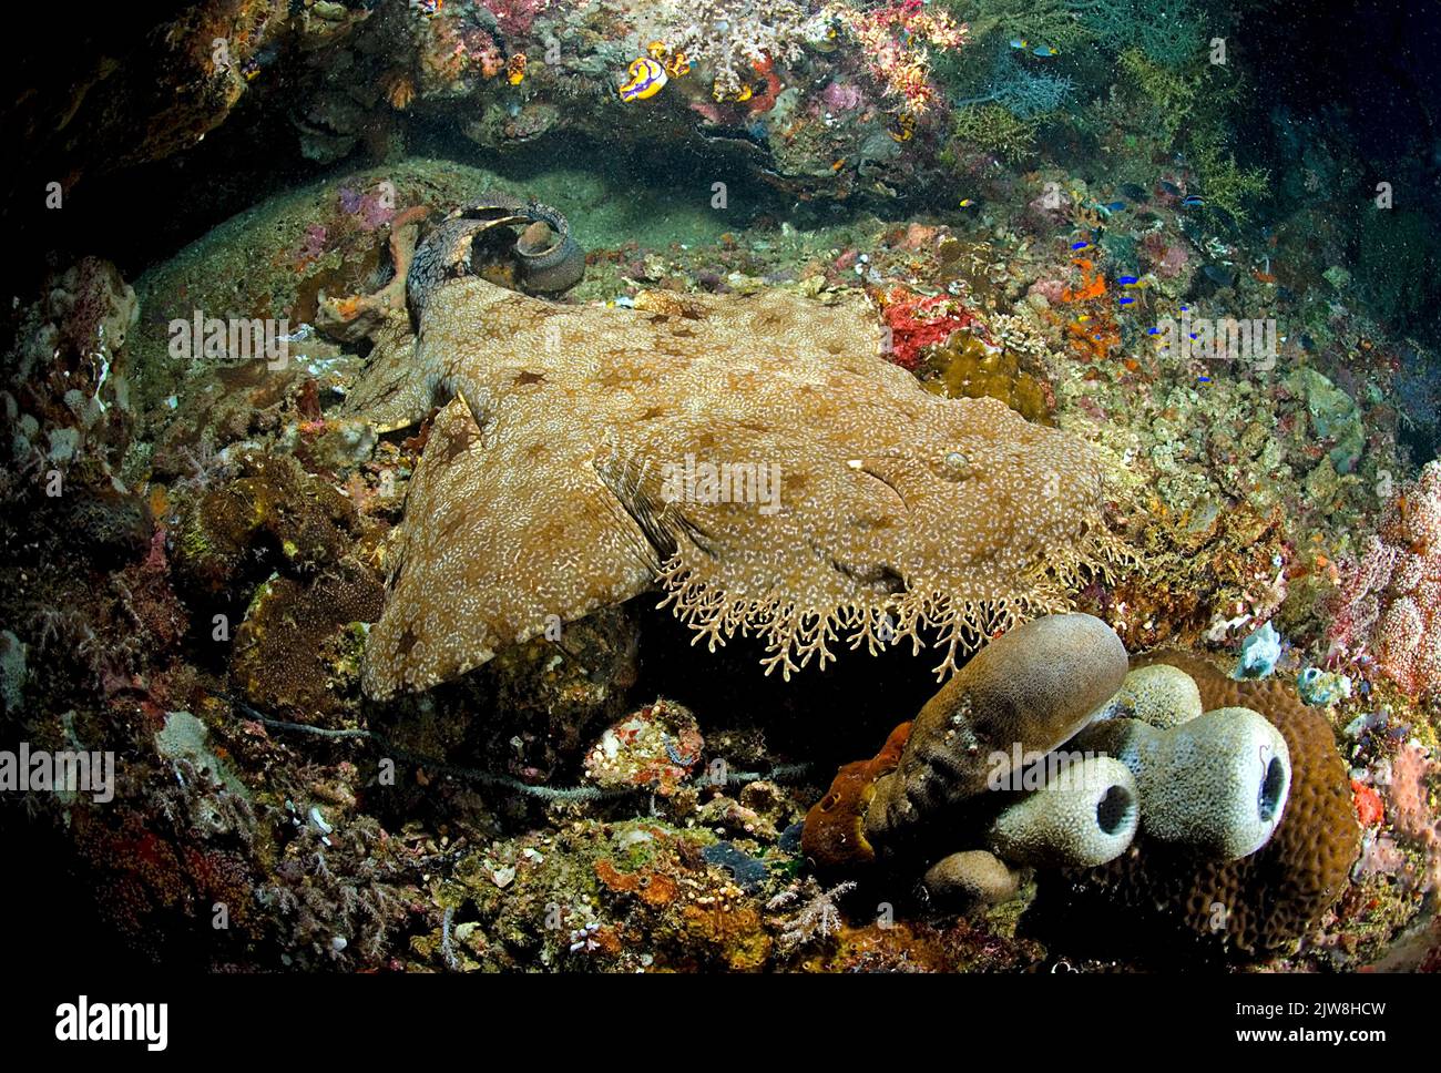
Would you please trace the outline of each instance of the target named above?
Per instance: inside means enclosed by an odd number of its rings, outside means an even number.
[[[395,573],[366,641],[365,690],[424,690],[654,579],[650,544],[584,461],[584,429],[464,398],[431,426],[405,498]]]

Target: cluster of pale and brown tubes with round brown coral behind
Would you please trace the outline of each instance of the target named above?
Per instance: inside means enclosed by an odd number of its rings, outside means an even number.
[[[821,868],[918,866],[932,902],[1007,900],[1017,867],[1062,873],[1270,949],[1340,893],[1344,786],[1324,719],[1281,683],[1180,654],[1128,670],[1104,622],[1052,615],[993,641],[880,756],[847,765],[804,845]]]

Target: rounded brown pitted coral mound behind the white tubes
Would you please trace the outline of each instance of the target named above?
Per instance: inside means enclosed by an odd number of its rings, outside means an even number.
[[[1346,889],[1360,851],[1346,762],[1331,727],[1277,678],[1236,681],[1208,660],[1160,651],[1134,667],[1166,663],[1200,687],[1206,710],[1248,707],[1265,716],[1291,753],[1285,814],[1261,850],[1232,861],[1205,860],[1147,840],[1117,860],[1069,873],[1112,906],[1159,912],[1202,936],[1252,956],[1284,951],[1314,929]]]

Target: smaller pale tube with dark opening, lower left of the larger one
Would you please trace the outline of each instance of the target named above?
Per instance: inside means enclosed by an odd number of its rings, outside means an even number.
[[[1014,864],[1084,868],[1125,853],[1138,822],[1140,794],[1130,768],[1110,756],[1088,756],[1007,805],[986,843]]]

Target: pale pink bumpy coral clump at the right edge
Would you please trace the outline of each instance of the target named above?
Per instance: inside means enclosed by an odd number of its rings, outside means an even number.
[[[1391,498],[1346,573],[1327,642],[1330,663],[1369,652],[1412,697],[1441,687],[1441,459]]]

